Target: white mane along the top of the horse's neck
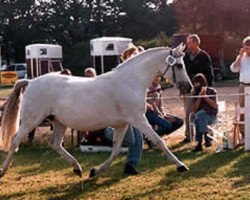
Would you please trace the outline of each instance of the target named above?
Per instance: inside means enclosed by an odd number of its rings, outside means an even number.
[[[125,62],[123,63],[120,63],[117,67],[115,67],[113,70],[120,70],[120,69],[123,69],[124,67],[126,67],[127,65],[130,65],[131,62],[135,62],[139,59],[141,59],[141,57],[145,56],[145,55],[148,55],[148,54],[151,54],[151,53],[154,53],[156,51],[160,51],[160,50],[170,50],[171,48],[169,47],[155,47],[155,48],[150,48],[150,49],[147,49],[146,51],[142,51],[140,52],[138,55],[136,55],[135,57],[133,57],[133,59],[128,59],[126,60]]]

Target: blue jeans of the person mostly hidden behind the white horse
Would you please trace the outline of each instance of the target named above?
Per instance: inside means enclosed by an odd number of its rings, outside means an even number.
[[[105,131],[105,136],[113,140],[114,129],[109,127],[108,131]],[[136,167],[141,159],[142,154],[142,145],[143,137],[141,132],[132,126],[128,126],[128,130],[125,133],[124,140],[128,142],[128,154],[126,163],[131,164],[133,167]]]

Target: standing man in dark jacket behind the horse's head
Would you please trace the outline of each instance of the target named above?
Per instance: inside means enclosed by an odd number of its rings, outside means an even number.
[[[212,60],[209,54],[200,48],[200,43],[201,40],[196,34],[187,37],[187,51],[184,56],[184,63],[190,80],[193,80],[197,74],[201,73],[205,76],[208,86],[211,87],[214,83]],[[184,99],[184,108],[186,113],[186,137],[183,142],[185,143],[190,141],[191,134],[189,131],[189,114],[192,112],[192,101],[189,98]]]

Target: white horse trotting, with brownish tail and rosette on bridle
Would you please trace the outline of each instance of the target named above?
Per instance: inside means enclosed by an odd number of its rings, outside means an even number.
[[[0,169],[0,177],[6,173],[22,139],[50,115],[54,116],[54,132],[49,146],[64,157],[80,177],[80,164],[62,146],[67,127],[82,131],[94,131],[108,126],[115,128],[111,156],[99,168],[93,168],[90,177],[106,169],[118,156],[128,124],[138,128],[157,145],[176,164],[178,171],[188,170],[171,153],[145,117],[146,90],[156,73],[169,67],[169,59],[166,62],[166,58],[170,54],[178,64],[167,70],[166,74],[172,77],[174,73],[176,83],[182,89],[191,89],[182,59],[183,49],[183,45],[175,49],[149,49],[96,78],[50,73],[33,80],[19,81],[7,100],[3,114],[0,146],[8,154]]]

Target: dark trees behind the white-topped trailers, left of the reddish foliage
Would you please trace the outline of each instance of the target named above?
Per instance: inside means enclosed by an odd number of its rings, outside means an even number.
[[[127,36],[137,40],[176,30],[173,9],[166,1],[156,0],[3,0],[0,13],[4,59],[24,62],[27,44],[58,43],[65,50],[64,64],[75,66],[75,72],[80,71],[76,69],[80,63],[90,64],[90,58],[86,59],[89,48],[85,47],[92,38]],[[85,48],[80,50],[86,52],[83,57],[76,55],[80,46]]]

